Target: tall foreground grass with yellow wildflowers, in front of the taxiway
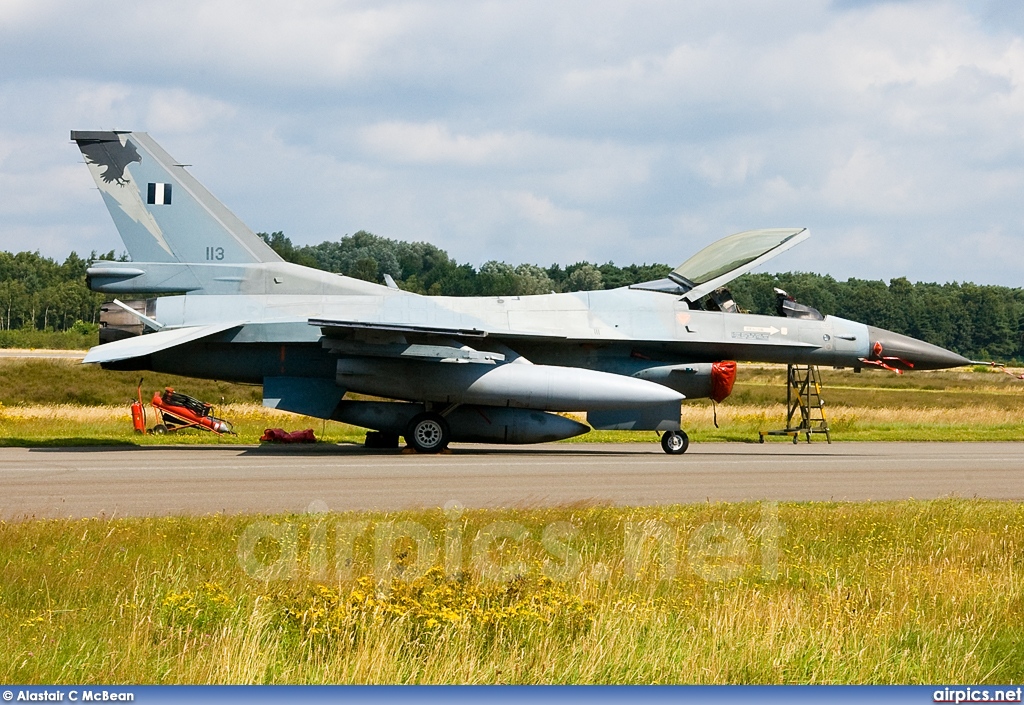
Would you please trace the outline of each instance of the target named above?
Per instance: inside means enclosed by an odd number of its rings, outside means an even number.
[[[1020,682],[1022,547],[952,499],[0,524],[0,680]]]

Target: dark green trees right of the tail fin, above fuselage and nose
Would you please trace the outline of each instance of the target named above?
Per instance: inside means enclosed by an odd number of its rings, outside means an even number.
[[[284,233],[260,236],[289,261],[380,282],[385,274],[408,291],[444,296],[546,294],[614,289],[660,279],[668,264],[577,262],[513,266],[459,264],[429,243],[388,240],[358,232],[337,242],[294,247]],[[905,278],[840,282],[801,272],[752,274],[728,285],[741,309],[774,315],[775,289],[822,314],[910,335],[973,360],[1024,361],[1024,289],[971,283],[915,283]]]

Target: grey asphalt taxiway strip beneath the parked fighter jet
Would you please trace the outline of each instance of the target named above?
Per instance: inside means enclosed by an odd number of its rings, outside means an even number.
[[[0,519],[743,500],[1024,499],[1022,443],[0,449]]]

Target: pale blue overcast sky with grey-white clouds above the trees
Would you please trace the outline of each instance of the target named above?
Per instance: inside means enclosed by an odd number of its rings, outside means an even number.
[[[255,231],[476,266],[1024,285],[1024,3],[0,0],[0,249],[123,250],[72,129],[150,132]]]

